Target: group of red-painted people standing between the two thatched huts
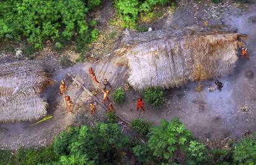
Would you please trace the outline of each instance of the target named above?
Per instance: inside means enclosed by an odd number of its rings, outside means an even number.
[[[95,75],[92,67],[89,68],[89,75],[92,78],[93,82],[97,83],[98,87],[100,87],[100,82],[97,80],[96,75]],[[102,102],[106,103],[106,101],[109,101],[109,93],[110,93],[110,90],[109,89],[107,90],[107,88],[109,87],[112,90],[112,87],[111,87],[110,83],[108,82],[108,80],[106,78],[103,80],[103,85],[104,85],[104,88],[101,89],[101,92],[103,93]],[[70,96],[65,95],[65,91],[67,91],[65,82],[64,82],[64,80],[61,80],[61,85],[59,86],[59,94],[64,96],[66,108],[69,111],[69,113],[71,113],[73,103],[70,99]],[[89,106],[90,106],[91,114],[93,116],[93,114],[96,111],[96,104],[91,102],[89,104]],[[144,103],[142,101],[142,98],[139,98],[138,101],[137,101],[137,111],[139,109],[142,109],[142,111],[145,112]],[[114,106],[110,102],[108,104],[108,111],[109,112],[114,112]]]

